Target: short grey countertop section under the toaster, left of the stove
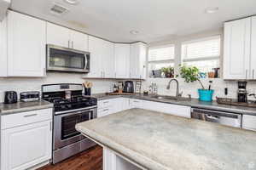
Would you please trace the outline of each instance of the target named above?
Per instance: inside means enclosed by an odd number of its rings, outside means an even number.
[[[48,101],[39,100],[32,102],[18,102],[15,104],[3,104],[0,103],[0,115],[15,114],[24,111],[35,111],[41,109],[52,108],[53,104]]]

